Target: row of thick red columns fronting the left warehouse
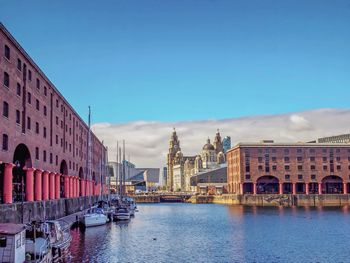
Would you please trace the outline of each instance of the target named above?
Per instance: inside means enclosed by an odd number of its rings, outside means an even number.
[[[6,163],[4,168],[3,201],[12,203],[13,197],[13,170],[14,164]],[[41,201],[50,199],[76,198],[100,194],[101,184],[92,180],[80,179],[76,176],[62,175],[42,171],[34,168],[26,168],[25,193],[26,201]],[[61,193],[61,178],[64,182],[64,196]],[[35,185],[34,185],[35,182]]]

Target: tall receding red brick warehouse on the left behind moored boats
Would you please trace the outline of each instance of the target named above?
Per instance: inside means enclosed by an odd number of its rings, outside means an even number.
[[[106,193],[107,149],[1,23],[0,81],[1,203]]]

